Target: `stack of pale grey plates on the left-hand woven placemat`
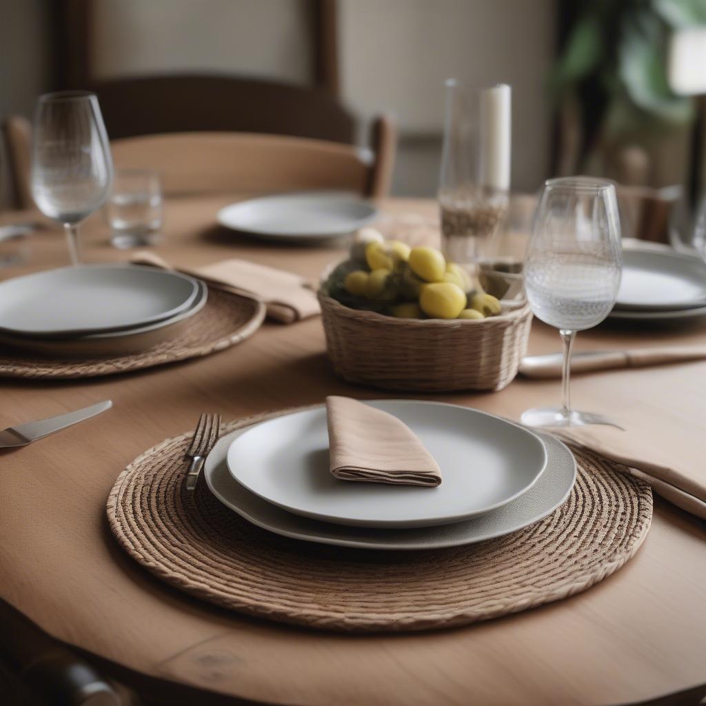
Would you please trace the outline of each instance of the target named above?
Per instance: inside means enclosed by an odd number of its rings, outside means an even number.
[[[138,352],[203,309],[203,282],[137,265],[81,265],[0,283],[0,342],[60,356]]]

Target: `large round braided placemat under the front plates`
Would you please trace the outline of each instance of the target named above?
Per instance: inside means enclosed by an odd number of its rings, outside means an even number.
[[[222,433],[279,414],[232,421]],[[251,525],[204,483],[182,491],[190,437],[163,441],[120,474],[107,503],[114,537],[193,596],[312,628],[431,630],[563,599],[623,566],[652,519],[650,486],[573,449],[578,475],[566,503],[500,539],[389,552],[300,542]]]

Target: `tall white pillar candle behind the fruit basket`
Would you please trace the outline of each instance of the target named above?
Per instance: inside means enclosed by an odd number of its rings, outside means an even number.
[[[497,191],[510,190],[510,97],[505,83],[480,92],[479,182]]]

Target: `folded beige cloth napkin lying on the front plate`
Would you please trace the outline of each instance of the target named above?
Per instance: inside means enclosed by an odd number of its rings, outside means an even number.
[[[441,471],[417,435],[392,414],[326,397],[330,471],[345,481],[438,486]]]

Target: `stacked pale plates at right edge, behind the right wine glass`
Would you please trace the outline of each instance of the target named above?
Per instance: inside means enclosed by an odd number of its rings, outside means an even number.
[[[670,321],[706,316],[706,263],[661,249],[623,251],[623,276],[609,318]]]

